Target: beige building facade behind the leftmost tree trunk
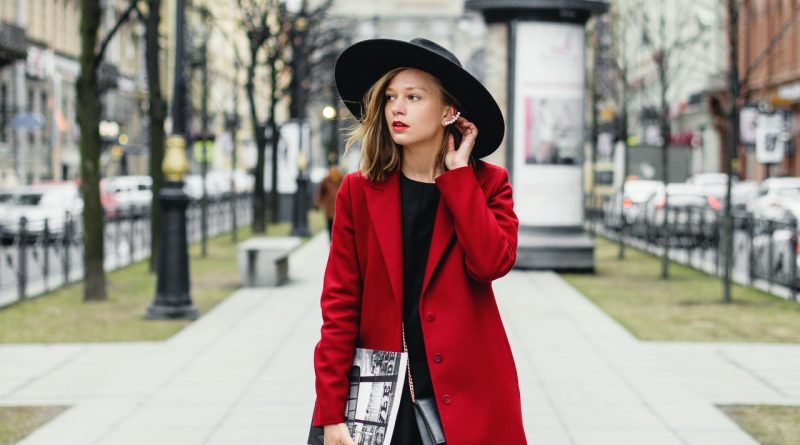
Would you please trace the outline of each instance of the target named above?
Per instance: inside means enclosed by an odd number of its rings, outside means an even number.
[[[100,37],[127,2],[103,2]],[[75,83],[80,74],[78,0],[0,0],[0,22],[22,28],[25,58],[0,68],[0,184],[74,179],[80,153]],[[146,147],[144,27],[124,24],[108,46],[101,77],[113,85],[103,94],[104,151],[110,172],[132,170]],[[110,124],[110,125],[109,125]],[[126,159],[126,156],[131,156]],[[124,161],[123,161],[124,159]]]

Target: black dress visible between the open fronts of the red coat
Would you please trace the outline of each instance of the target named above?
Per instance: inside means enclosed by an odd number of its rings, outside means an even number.
[[[433,384],[422,338],[419,298],[439,205],[439,189],[436,184],[413,181],[401,173],[400,203],[403,220],[403,320],[411,377],[414,380],[414,395],[416,398],[433,397]],[[391,445],[422,443],[408,390],[408,377],[403,387],[395,425]]]

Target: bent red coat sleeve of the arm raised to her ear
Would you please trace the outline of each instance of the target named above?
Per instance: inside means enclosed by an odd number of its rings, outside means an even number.
[[[450,170],[436,178],[442,199],[453,214],[467,272],[482,282],[508,273],[517,258],[519,221],[514,213],[508,171],[497,172],[486,192],[471,167]]]

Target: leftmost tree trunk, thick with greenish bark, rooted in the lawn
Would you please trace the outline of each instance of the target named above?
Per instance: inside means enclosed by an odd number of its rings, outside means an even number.
[[[100,204],[100,96],[97,89],[96,45],[100,0],[81,0],[81,73],[76,85],[80,125],[81,196],[83,197],[83,299],[106,299],[103,270],[103,206]]]

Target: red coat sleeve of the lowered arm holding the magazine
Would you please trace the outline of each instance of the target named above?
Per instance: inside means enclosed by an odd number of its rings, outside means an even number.
[[[336,218],[320,298],[321,338],[314,350],[315,426],[344,421],[348,374],[358,335],[363,281],[353,231],[349,179],[344,178],[336,195]]]

